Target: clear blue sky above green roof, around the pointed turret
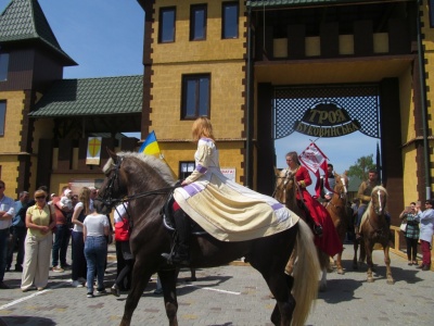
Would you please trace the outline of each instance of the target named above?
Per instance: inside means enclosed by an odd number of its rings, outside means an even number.
[[[2,12],[10,0],[0,0]],[[64,78],[143,74],[144,11],[136,0],[39,0],[61,48],[78,66]]]

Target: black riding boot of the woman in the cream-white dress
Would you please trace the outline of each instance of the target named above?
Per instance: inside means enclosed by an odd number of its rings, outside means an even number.
[[[186,213],[179,209],[174,214],[175,228],[178,241],[170,253],[162,253],[169,264],[190,264],[190,221]]]

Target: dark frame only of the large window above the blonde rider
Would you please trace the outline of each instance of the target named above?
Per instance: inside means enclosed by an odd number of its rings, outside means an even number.
[[[209,117],[210,115],[210,73],[202,73],[202,74],[186,74],[181,77],[181,120],[196,120],[200,116]],[[205,112],[201,112],[201,89],[200,84],[201,79],[206,78],[208,80],[208,88],[207,88],[207,110]],[[188,100],[189,100],[189,92],[188,92],[188,82],[195,80],[195,92],[194,92],[194,114],[189,114],[188,108]],[[199,87],[199,88],[197,88]]]

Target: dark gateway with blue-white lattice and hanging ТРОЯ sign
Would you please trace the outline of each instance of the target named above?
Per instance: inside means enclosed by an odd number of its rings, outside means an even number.
[[[380,139],[382,181],[390,196],[403,200],[399,84],[257,87],[257,188],[272,193],[273,140],[299,131],[312,137],[339,137],[360,131]],[[391,187],[392,186],[392,187]],[[391,193],[392,191],[392,193]],[[391,213],[394,210],[391,209]]]

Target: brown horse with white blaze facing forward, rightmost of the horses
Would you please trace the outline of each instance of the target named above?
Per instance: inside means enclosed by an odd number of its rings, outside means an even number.
[[[360,223],[360,258],[359,263],[365,259],[368,264],[369,283],[373,281],[372,277],[372,250],[375,243],[380,243],[384,251],[384,263],[386,264],[387,284],[394,284],[391,271],[391,258],[388,249],[391,244],[391,231],[385,217],[385,208],[387,203],[387,191],[382,186],[372,189],[371,201],[361,218]],[[358,242],[354,241],[353,266],[357,268],[357,248]]]

